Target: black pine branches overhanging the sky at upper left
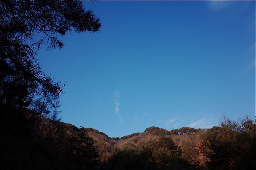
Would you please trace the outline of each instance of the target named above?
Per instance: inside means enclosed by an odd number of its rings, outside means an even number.
[[[58,36],[67,32],[96,32],[100,19],[85,10],[82,1],[0,1],[0,103],[26,107],[34,95],[47,89],[63,93],[36,59],[41,47],[63,47]]]

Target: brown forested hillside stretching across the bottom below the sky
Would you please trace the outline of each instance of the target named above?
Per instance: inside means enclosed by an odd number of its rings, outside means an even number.
[[[110,138],[46,117],[38,124],[39,114],[28,109],[3,113],[2,169],[255,168],[255,121],[246,115],[239,121],[224,117],[210,129],[149,127]]]

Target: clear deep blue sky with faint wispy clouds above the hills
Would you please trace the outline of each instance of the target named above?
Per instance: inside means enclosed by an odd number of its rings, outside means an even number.
[[[97,33],[41,49],[46,73],[67,82],[62,122],[122,137],[156,126],[255,120],[255,1],[84,1]]]

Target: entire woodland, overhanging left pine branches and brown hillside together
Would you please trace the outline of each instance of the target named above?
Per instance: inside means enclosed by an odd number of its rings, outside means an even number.
[[[97,32],[100,19],[81,1],[0,0],[2,169],[255,169],[255,118],[210,129],[110,138],[60,121],[65,83],[42,70],[37,51],[62,48],[67,32]]]

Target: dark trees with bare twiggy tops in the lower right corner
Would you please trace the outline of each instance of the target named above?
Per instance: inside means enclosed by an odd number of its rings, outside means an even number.
[[[203,140],[209,169],[255,169],[255,121],[247,115],[241,122],[223,115],[220,127],[210,128]]]

